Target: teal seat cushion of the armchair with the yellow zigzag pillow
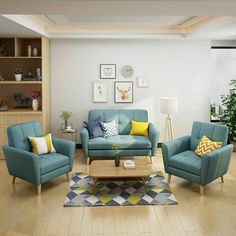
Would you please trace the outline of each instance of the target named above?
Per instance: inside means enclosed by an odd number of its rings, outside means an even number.
[[[201,158],[192,151],[185,151],[172,156],[169,159],[169,165],[195,175],[201,174]]]

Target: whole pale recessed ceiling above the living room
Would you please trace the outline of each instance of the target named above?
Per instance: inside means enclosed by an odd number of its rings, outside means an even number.
[[[0,0],[0,35],[236,39],[236,0]]]

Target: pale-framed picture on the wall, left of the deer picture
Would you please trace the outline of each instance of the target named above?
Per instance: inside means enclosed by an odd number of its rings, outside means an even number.
[[[93,102],[107,102],[107,82],[93,82]]]

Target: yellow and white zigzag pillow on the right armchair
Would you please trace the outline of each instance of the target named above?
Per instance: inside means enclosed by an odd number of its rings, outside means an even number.
[[[213,142],[206,136],[203,136],[195,150],[195,153],[202,157],[218,148],[221,148],[222,144],[222,142]]]

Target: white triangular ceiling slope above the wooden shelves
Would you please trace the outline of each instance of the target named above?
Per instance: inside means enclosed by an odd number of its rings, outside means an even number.
[[[40,35],[48,37],[48,32],[45,31],[45,27],[49,25],[49,22],[46,21],[41,16],[33,16],[33,15],[7,15],[3,14],[3,17],[16,22],[30,30],[33,30]]]

